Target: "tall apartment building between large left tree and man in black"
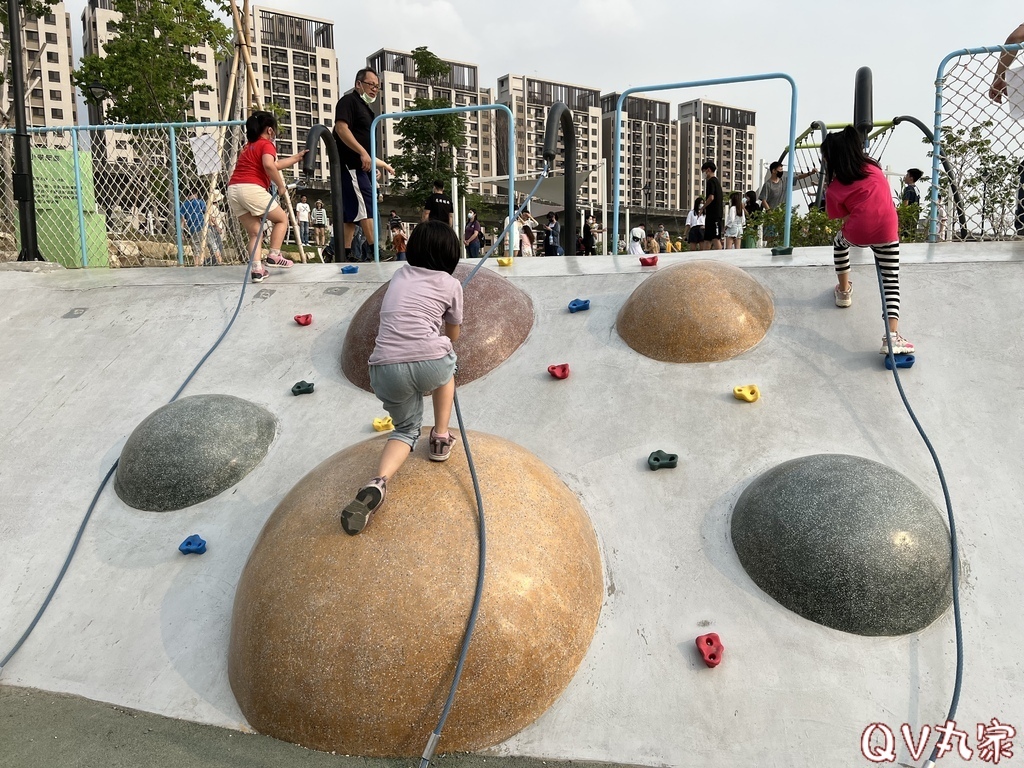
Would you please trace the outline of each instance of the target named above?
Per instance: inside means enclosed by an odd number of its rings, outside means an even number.
[[[334,108],[341,96],[334,24],[253,6],[250,31],[253,75],[263,104],[276,104],[284,113],[278,154],[292,155],[305,147],[312,126],[334,126]],[[230,59],[221,69],[222,79],[230,75],[229,68]],[[323,178],[327,167],[325,153],[317,153],[314,175]],[[290,172],[301,173],[301,166]]]

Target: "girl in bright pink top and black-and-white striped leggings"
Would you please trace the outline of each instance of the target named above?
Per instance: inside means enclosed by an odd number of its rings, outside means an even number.
[[[825,163],[825,210],[828,218],[843,219],[833,242],[836,259],[836,306],[853,303],[850,282],[850,246],[870,248],[882,269],[886,296],[886,316],[892,338],[893,354],[912,354],[913,344],[899,333],[899,227],[892,190],[882,168],[864,153],[864,141],[852,125],[829,133],[821,142]],[[882,337],[882,354],[889,354]]]

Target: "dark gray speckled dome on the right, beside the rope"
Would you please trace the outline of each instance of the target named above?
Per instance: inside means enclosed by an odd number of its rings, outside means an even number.
[[[952,599],[942,513],[908,478],[856,456],[765,472],[736,502],[732,543],[761,589],[844,632],[916,632]]]

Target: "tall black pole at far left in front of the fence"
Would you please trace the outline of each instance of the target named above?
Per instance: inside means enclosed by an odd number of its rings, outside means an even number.
[[[25,120],[25,65],[22,56],[22,9],[17,0],[7,0],[7,29],[10,32],[10,68],[14,111],[14,200],[17,201],[18,231],[22,250],[18,261],[42,261],[36,236],[36,195],[32,188],[32,145],[29,143],[29,125]]]

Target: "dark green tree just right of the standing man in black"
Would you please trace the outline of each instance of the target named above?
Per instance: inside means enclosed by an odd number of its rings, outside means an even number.
[[[426,46],[413,50],[413,60],[416,62],[416,80],[430,86],[451,87],[451,65],[431,53]],[[440,110],[451,105],[447,98],[430,97],[419,97],[413,103],[415,110]],[[469,182],[466,169],[453,160],[456,151],[466,145],[466,129],[461,115],[407,117],[397,122],[394,131],[399,136],[397,147],[401,150],[401,155],[393,158],[391,165],[412,197],[426,199],[435,179],[446,183],[453,176],[459,179],[459,188],[466,188]]]

